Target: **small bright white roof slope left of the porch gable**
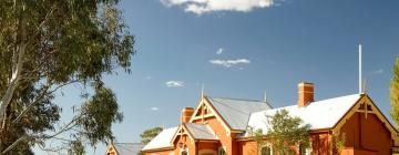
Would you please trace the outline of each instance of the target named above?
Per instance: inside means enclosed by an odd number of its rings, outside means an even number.
[[[171,141],[176,133],[177,127],[165,128],[158,135],[156,135],[142,151],[149,151],[154,148],[171,147]]]

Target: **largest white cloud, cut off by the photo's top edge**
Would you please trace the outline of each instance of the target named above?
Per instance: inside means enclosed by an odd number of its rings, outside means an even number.
[[[195,14],[216,11],[249,12],[256,8],[268,8],[274,0],[161,0],[166,7],[180,6]]]

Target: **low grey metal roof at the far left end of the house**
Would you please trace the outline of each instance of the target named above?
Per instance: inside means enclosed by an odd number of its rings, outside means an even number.
[[[144,147],[142,143],[114,143],[117,155],[137,155]]]

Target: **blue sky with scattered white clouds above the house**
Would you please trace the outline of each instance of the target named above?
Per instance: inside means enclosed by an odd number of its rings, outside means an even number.
[[[315,84],[315,100],[358,93],[358,44],[367,94],[389,117],[389,83],[399,53],[397,0],[122,0],[135,35],[132,72],[104,78],[124,121],[116,142],[140,142],[155,126],[174,127],[209,96],[297,103],[297,84]],[[57,100],[63,115],[75,89]],[[103,154],[99,145],[89,154]]]

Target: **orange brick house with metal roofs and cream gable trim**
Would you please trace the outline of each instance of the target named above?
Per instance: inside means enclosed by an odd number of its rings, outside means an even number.
[[[247,127],[267,132],[266,115],[287,110],[310,125],[309,148],[297,154],[331,154],[332,135],[345,135],[344,155],[390,155],[399,146],[398,132],[367,94],[314,101],[314,84],[298,84],[295,105],[273,108],[263,101],[202,95],[195,108],[182,110],[181,123],[166,128],[143,147],[146,155],[272,155],[258,148]]]

